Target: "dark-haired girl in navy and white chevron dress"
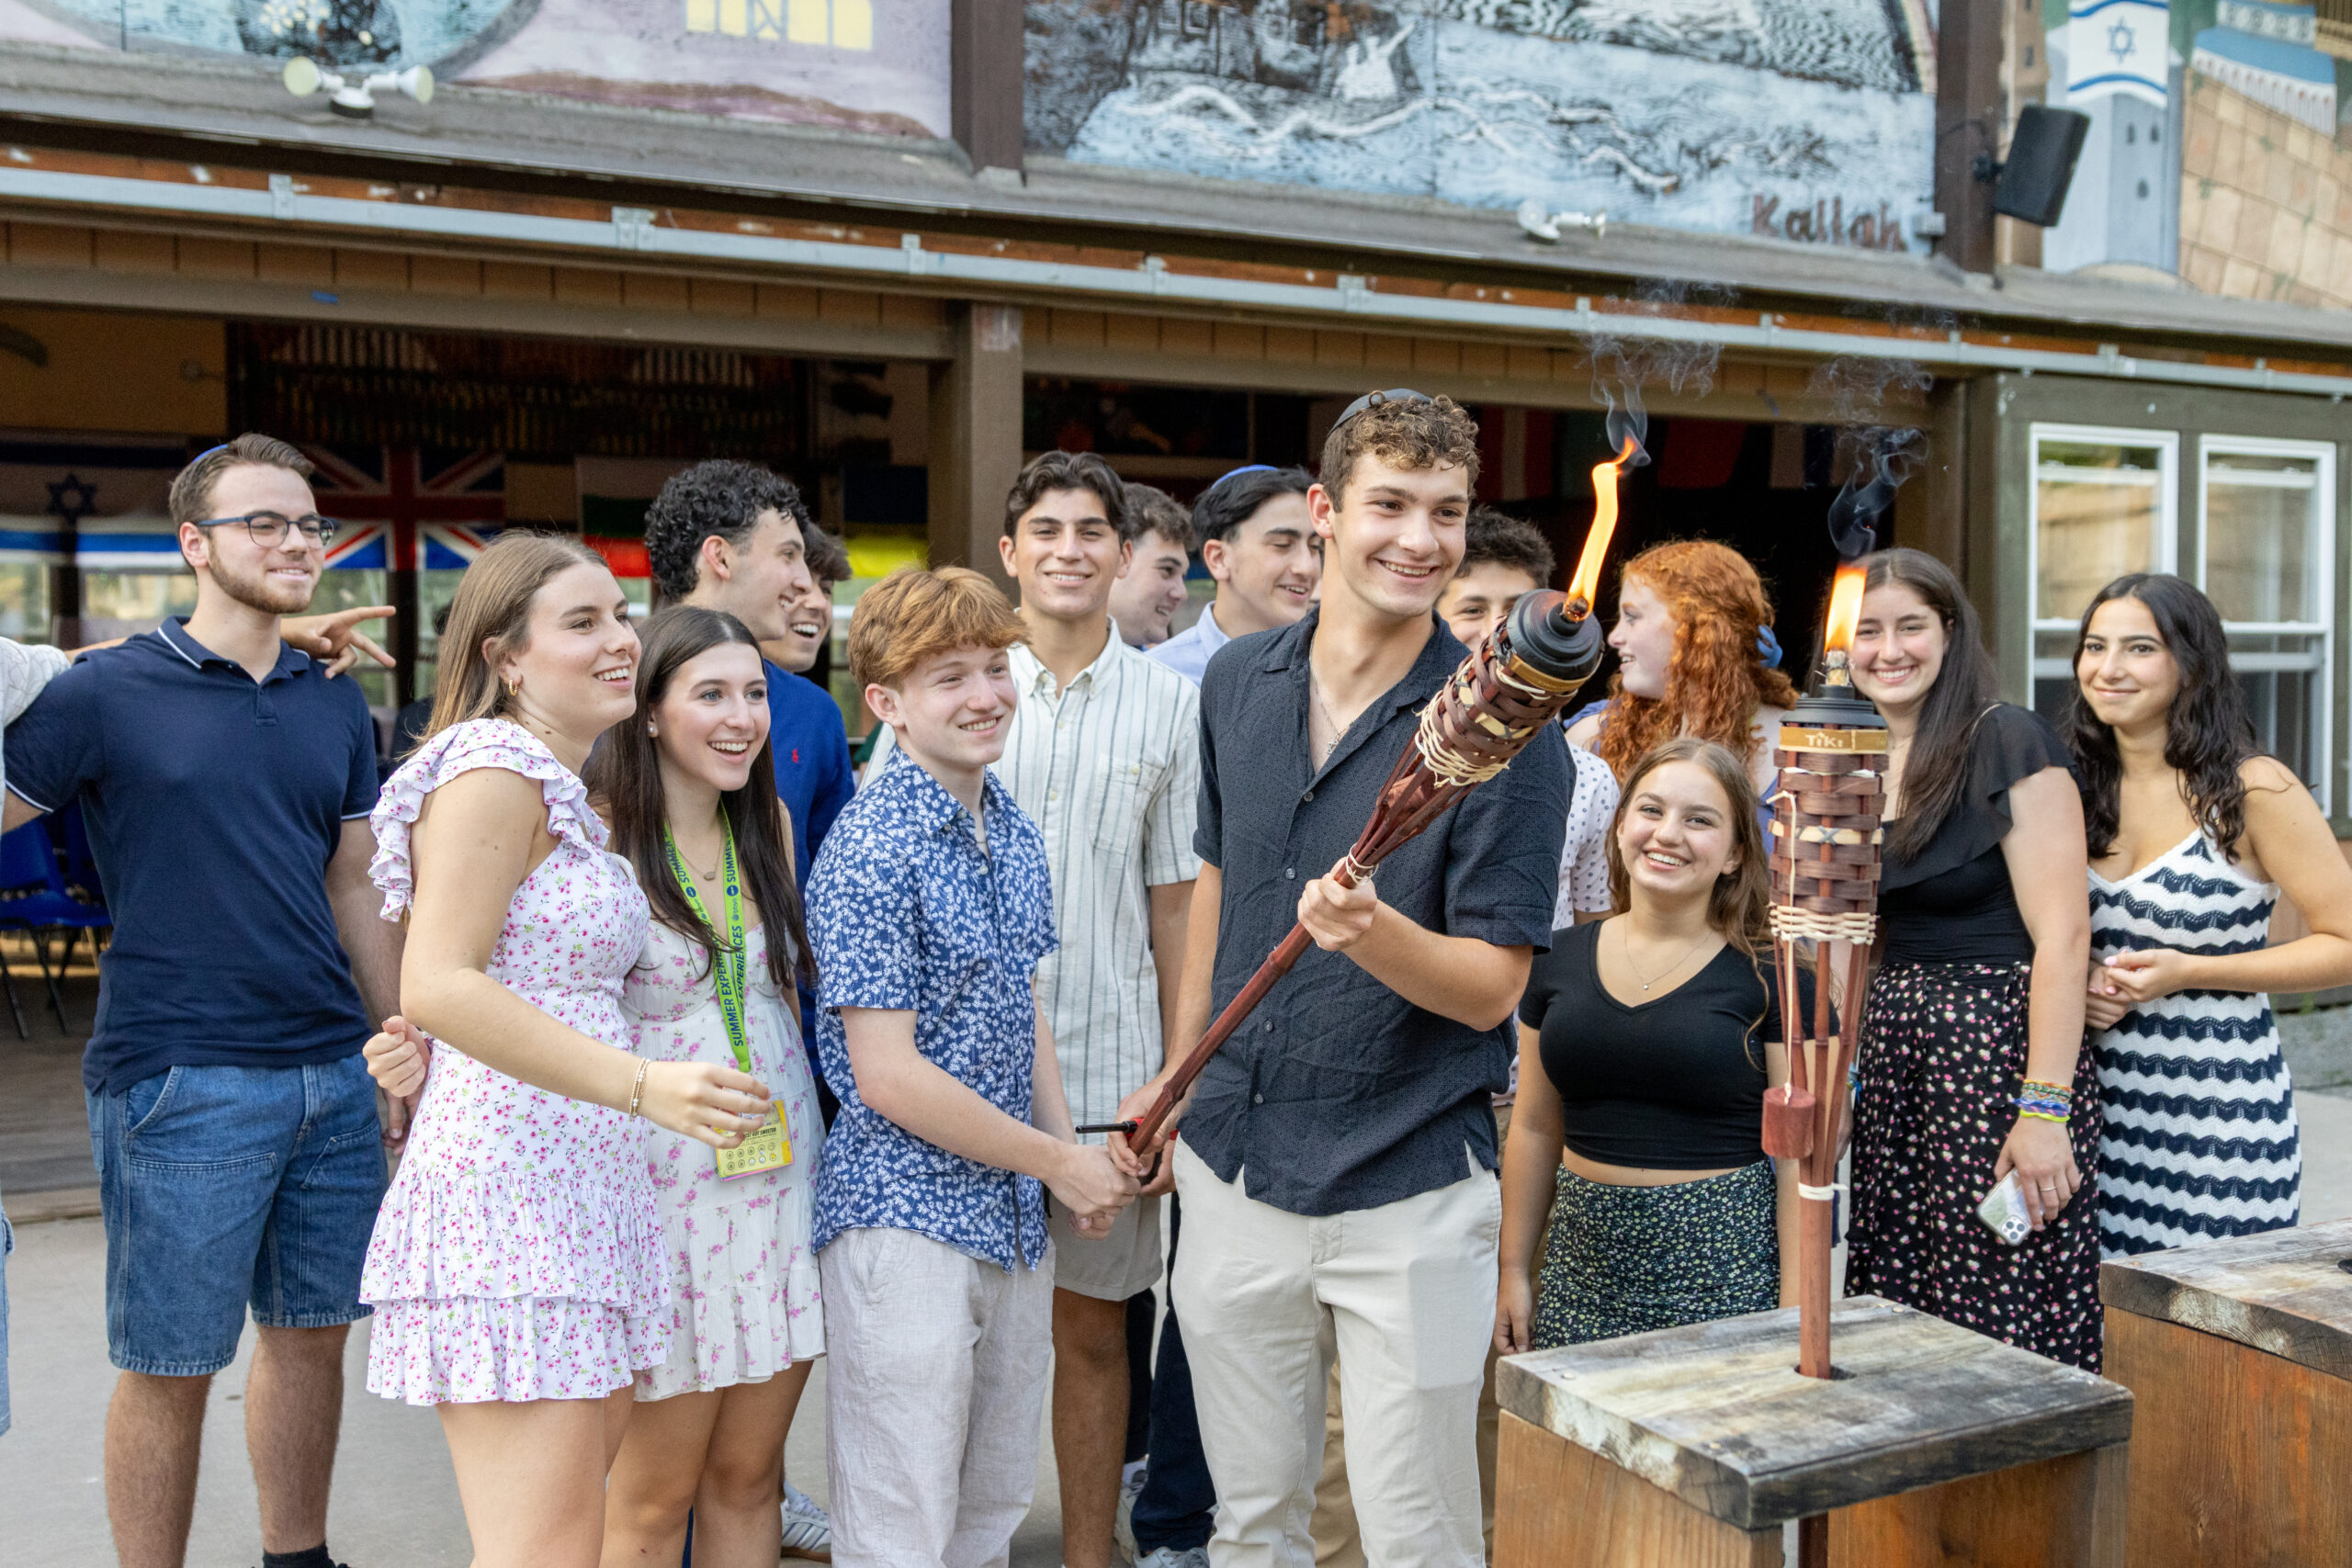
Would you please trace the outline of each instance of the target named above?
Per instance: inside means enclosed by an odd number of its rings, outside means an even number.
[[[2284,1229],[2303,1154],[2265,992],[2352,980],[2352,867],[2256,750],[2220,611],[2176,576],[2091,599],[2067,741],[2091,837],[2100,1251]],[[2312,933],[2265,947],[2281,891]]]

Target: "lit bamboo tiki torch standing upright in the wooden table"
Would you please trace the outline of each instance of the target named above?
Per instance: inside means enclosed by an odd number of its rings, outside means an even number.
[[[1837,1150],[1879,922],[1886,719],[1853,691],[1849,663],[1863,576],[1860,562],[1837,569],[1820,679],[1790,708],[1773,750],[1780,792],[1771,820],[1771,936],[1790,1081],[1764,1091],[1764,1152],[1797,1161],[1797,1371],[1806,1378],[1830,1375]],[[1797,1006],[1802,943],[1816,957],[1811,1020]],[[1844,978],[1842,1027],[1830,1018],[1830,976]]]

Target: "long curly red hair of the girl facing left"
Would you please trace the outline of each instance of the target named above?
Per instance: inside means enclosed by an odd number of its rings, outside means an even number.
[[[1665,696],[1632,696],[1625,677],[1611,675],[1609,717],[1592,750],[1618,778],[1677,736],[1715,741],[1733,757],[1752,755],[1757,708],[1797,701],[1790,679],[1757,658],[1757,635],[1771,625],[1764,578],[1745,555],[1710,538],[1651,545],[1625,562],[1621,583],[1635,578],[1675,616]]]

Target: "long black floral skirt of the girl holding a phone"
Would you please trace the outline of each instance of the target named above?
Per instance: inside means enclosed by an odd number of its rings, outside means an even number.
[[[1976,1206],[1992,1190],[2025,1077],[2030,964],[1886,964],[1870,985],[1853,1098],[1846,1293],[2098,1371],[2098,1070],[2074,1060],[2070,1135],[2082,1190],[2006,1246]]]

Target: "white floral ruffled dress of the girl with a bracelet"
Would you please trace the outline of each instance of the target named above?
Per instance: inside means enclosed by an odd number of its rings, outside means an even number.
[[[581,780],[520,724],[426,741],[374,811],[383,917],[414,893],[409,830],[470,769],[539,780],[555,851],[515,889],[489,978],[614,1048],[621,983],[644,950],[644,893]],[[435,1041],[433,1070],[367,1246],[367,1387],[407,1403],[602,1399],[661,1366],[670,1269],[633,1117],[567,1100]]]

